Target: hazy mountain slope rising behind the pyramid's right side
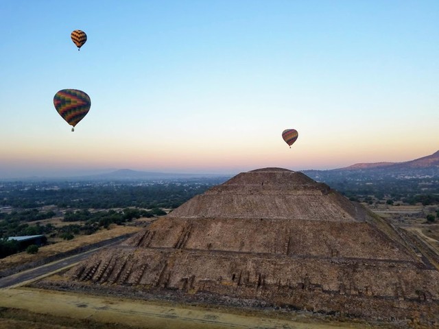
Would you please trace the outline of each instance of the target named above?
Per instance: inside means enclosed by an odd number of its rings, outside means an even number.
[[[349,167],[332,170],[302,171],[314,180],[374,180],[383,178],[428,178],[439,177],[439,151],[405,162],[357,163]]]

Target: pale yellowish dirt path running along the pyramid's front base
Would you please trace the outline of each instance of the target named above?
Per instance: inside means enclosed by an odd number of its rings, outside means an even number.
[[[56,317],[93,319],[111,324],[126,324],[139,328],[283,328],[334,329],[378,328],[365,324],[314,323],[303,319],[276,319],[259,315],[238,315],[213,308],[163,305],[116,297],[99,297],[45,291],[39,289],[0,289],[0,306],[19,308],[33,313]],[[298,317],[298,316],[296,316]]]

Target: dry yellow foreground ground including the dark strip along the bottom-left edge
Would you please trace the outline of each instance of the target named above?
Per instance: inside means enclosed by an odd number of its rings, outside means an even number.
[[[397,328],[366,322],[318,319],[305,313],[270,313],[146,302],[39,289],[0,291],[0,328],[204,329],[204,328]]]

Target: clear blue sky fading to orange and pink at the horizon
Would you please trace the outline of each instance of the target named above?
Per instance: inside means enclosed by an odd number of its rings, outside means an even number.
[[[0,178],[334,169],[439,149],[437,0],[1,0],[0,13]],[[64,88],[91,97],[75,132],[54,108]]]

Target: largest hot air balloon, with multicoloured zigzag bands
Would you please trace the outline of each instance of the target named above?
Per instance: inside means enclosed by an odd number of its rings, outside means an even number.
[[[86,93],[76,89],[62,89],[55,94],[54,106],[62,119],[75,131],[78,124],[90,110],[91,100]]]

